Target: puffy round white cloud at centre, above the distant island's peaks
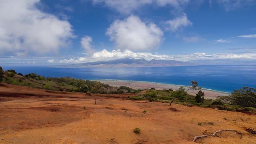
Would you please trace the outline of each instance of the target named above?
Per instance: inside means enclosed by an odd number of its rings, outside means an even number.
[[[115,20],[106,31],[110,41],[121,50],[157,49],[163,41],[163,32],[154,23],[145,24],[139,17],[131,15],[124,20]]]

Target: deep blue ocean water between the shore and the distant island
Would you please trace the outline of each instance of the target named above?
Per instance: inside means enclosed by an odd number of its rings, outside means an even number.
[[[189,85],[197,81],[202,88],[232,92],[243,86],[256,88],[256,66],[184,66],[132,68],[52,68],[2,66],[18,73],[37,73],[49,77],[74,77],[84,80],[126,80]]]

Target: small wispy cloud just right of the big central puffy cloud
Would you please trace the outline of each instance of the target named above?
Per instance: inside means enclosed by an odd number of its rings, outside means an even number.
[[[172,20],[166,21],[165,24],[166,24],[166,30],[170,30],[171,32],[175,32],[187,26],[192,26],[191,21],[187,19],[187,16],[185,13],[183,13],[183,15],[181,15],[180,17],[176,17]]]

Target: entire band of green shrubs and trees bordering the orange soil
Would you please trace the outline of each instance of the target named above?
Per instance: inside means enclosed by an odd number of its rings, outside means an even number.
[[[122,94],[134,93],[129,96],[130,100],[149,100],[150,102],[177,103],[186,106],[212,107],[220,110],[256,113],[256,90],[243,87],[234,90],[231,95],[217,97],[217,99],[204,99],[204,92],[196,81],[191,81],[188,89],[182,86],[179,90],[162,89],[133,89],[127,86],[110,86],[98,81],[89,81],[67,77],[44,77],[36,73],[21,74],[15,70],[3,71],[0,67],[0,82],[27,86],[32,88],[47,89],[54,91]],[[197,90],[196,96],[191,95],[189,90]]]

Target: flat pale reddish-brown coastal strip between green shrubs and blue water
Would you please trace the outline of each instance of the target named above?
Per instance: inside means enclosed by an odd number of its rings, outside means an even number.
[[[182,85],[173,85],[173,84],[160,84],[160,83],[154,83],[154,82],[143,82],[143,81],[124,81],[124,80],[97,80],[101,83],[108,84],[110,86],[127,86],[134,89],[147,89],[147,88],[155,88],[156,90],[160,89],[172,89],[172,90],[178,90],[180,86]],[[183,86],[184,88],[188,88],[188,86]],[[227,96],[230,93],[223,92],[223,91],[216,91],[212,89],[201,89],[204,92],[204,98],[205,99],[216,99],[218,96]],[[189,90],[188,92],[191,95],[196,95],[198,92],[197,90]]]

